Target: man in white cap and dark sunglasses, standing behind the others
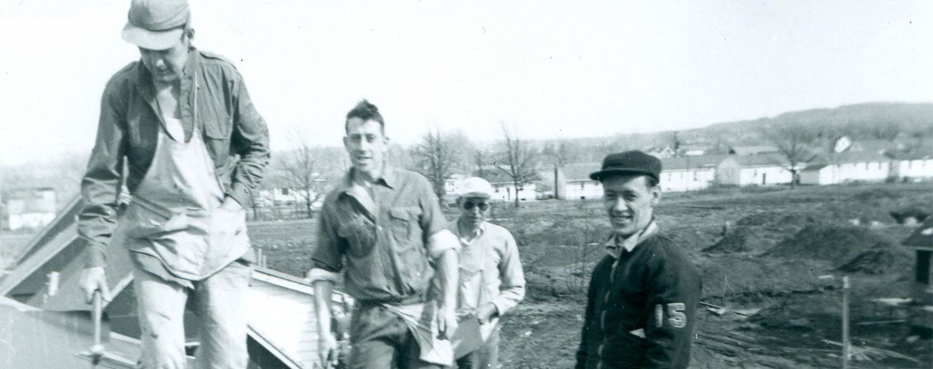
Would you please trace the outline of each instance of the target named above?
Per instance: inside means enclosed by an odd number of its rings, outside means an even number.
[[[460,369],[494,369],[499,358],[499,317],[524,298],[522,261],[512,234],[486,221],[493,186],[470,177],[460,183],[457,195],[460,216],[449,226],[460,239],[457,315],[480,321],[483,344],[457,358],[456,364]]]

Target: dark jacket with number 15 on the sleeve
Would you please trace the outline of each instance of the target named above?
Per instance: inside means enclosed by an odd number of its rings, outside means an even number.
[[[577,369],[686,368],[699,273],[658,232],[618,254],[593,269]]]

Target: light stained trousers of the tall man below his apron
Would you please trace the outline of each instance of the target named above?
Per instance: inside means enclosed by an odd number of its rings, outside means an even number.
[[[188,298],[197,317],[199,369],[245,369],[246,298],[252,267],[235,261],[185,288],[136,267],[133,288],[142,330],[140,369],[185,368],[184,315]]]

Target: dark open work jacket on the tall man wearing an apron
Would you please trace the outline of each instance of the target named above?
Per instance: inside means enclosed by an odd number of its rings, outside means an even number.
[[[78,233],[90,242],[86,267],[103,267],[104,250],[117,223],[118,192],[124,172],[130,194],[146,176],[164,129],[152,75],[131,62],[104,88],[97,139],[81,181],[84,208]],[[226,196],[248,206],[269,163],[269,131],[249,99],[232,63],[191,48],[182,69],[179,95],[185,141],[201,134]],[[194,124],[195,119],[199,122]],[[201,128],[195,132],[194,127]]]

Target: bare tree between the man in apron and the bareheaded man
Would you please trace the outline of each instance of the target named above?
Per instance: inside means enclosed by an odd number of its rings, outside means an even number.
[[[310,144],[304,135],[292,137],[295,149],[280,162],[279,169],[283,182],[299,194],[311,218],[313,203],[327,195],[327,182],[336,172],[339,159],[327,149]]]

